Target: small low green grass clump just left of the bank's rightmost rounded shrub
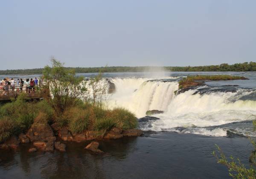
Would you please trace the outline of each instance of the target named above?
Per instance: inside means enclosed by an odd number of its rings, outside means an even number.
[[[115,122],[111,118],[97,119],[94,123],[94,130],[97,132],[98,136],[103,137],[114,125]]]

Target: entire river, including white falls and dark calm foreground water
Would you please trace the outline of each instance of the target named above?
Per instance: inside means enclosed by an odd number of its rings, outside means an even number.
[[[174,94],[178,80],[196,74],[240,75],[249,80],[209,81]],[[116,87],[109,108],[126,107],[137,118],[147,110],[164,111],[156,118],[140,119],[144,136],[99,141],[105,154],[98,156],[83,149],[86,143],[67,144],[66,153],[27,153],[27,145],[17,151],[0,150],[0,178],[229,178],[211,154],[215,144],[249,165],[252,145],[243,136],[256,136],[252,126],[256,72],[128,72],[104,77]]]

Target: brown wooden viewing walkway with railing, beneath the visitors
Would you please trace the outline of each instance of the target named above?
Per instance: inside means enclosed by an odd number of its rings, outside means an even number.
[[[21,93],[25,93],[30,99],[49,98],[49,87],[46,85],[26,87],[23,85],[0,85],[0,101],[10,101],[12,98],[17,98]]]

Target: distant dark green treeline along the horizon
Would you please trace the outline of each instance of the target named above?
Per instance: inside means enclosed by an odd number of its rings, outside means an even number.
[[[240,64],[220,64],[209,66],[108,66],[108,67],[66,67],[74,69],[76,73],[93,73],[93,72],[145,72],[145,71],[172,71],[172,72],[214,72],[214,71],[256,71],[256,62],[244,62]],[[42,74],[43,68],[36,69],[7,69],[0,70],[0,75],[32,75]]]

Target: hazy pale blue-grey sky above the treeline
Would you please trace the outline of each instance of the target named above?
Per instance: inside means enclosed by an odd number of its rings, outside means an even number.
[[[256,61],[256,0],[2,0],[0,69]]]

